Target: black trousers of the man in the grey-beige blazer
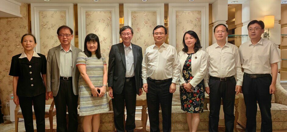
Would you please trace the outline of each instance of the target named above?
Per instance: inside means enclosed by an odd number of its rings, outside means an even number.
[[[59,91],[54,97],[56,106],[57,132],[76,132],[78,129],[78,95],[74,95],[72,80],[60,80]],[[68,106],[69,126],[67,129],[66,111]]]

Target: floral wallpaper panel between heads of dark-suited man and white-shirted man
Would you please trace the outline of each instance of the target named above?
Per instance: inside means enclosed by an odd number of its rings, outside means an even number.
[[[152,30],[157,26],[156,11],[132,11],[131,28],[134,36],[131,42],[142,47],[142,53],[154,44]]]

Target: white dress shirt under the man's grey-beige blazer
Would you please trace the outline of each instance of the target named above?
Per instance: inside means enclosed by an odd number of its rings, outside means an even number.
[[[72,55],[72,46],[68,51],[65,51],[60,46],[60,76],[61,77],[71,77],[73,73],[73,55]]]

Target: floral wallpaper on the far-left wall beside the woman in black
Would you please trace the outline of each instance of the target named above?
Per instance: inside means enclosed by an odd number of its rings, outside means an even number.
[[[21,37],[28,33],[27,4],[20,6],[20,14],[22,17],[0,18],[0,98],[4,115],[10,114],[5,102],[9,102],[9,95],[13,94],[13,77],[9,76],[11,59],[23,52]]]

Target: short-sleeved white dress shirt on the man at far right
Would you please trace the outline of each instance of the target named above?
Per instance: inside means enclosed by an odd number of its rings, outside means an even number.
[[[248,74],[271,74],[271,64],[281,61],[275,43],[263,38],[254,45],[251,41],[242,43],[239,53],[242,68]]]

